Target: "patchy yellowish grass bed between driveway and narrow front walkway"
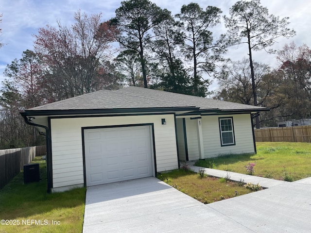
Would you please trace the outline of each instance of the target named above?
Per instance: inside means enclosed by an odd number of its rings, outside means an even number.
[[[157,178],[205,204],[252,192],[242,184],[208,176],[201,178],[190,170],[177,169],[161,173]]]

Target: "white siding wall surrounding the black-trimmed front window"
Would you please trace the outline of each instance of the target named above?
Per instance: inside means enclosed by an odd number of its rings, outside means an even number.
[[[222,147],[218,117],[230,116],[233,116],[234,136],[236,145]],[[249,114],[202,116],[202,131],[205,158],[213,158],[221,154],[230,153],[255,153],[252,123]]]

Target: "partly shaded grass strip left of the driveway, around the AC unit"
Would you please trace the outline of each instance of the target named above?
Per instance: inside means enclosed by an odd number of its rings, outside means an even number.
[[[40,164],[40,182],[24,184],[20,172],[0,190],[0,219],[19,222],[19,225],[1,225],[0,233],[82,232],[86,189],[48,194],[46,163],[41,158],[33,161]],[[38,225],[34,220],[50,225]],[[53,225],[52,220],[59,225]]]

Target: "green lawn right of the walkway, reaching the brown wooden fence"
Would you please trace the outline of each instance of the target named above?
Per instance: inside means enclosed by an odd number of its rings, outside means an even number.
[[[200,160],[195,166],[208,167],[211,161],[216,169],[246,172],[248,163],[256,163],[255,176],[276,180],[296,181],[311,177],[311,144],[288,142],[258,142],[257,154],[226,155]]]

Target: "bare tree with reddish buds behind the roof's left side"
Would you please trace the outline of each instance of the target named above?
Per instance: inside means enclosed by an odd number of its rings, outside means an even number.
[[[70,27],[58,22],[58,29],[47,25],[35,35],[35,51],[47,65],[46,77],[55,100],[82,95],[103,88],[104,63],[109,61],[114,28],[101,21],[101,14],[87,16],[78,11]]]

